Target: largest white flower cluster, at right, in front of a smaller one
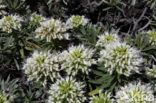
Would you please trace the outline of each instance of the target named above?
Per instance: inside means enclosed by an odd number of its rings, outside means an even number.
[[[117,72],[129,76],[131,72],[139,72],[138,66],[143,62],[143,59],[135,48],[124,42],[113,42],[100,51],[98,61],[110,74]]]

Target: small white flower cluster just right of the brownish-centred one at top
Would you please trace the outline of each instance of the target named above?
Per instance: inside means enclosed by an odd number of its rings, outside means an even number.
[[[84,16],[73,15],[67,20],[66,25],[68,29],[74,29],[78,28],[79,26],[85,26],[88,21],[89,20]]]

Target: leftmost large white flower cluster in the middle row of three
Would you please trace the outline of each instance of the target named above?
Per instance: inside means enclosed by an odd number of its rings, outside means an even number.
[[[40,82],[45,86],[48,79],[54,81],[60,77],[58,61],[58,55],[51,54],[50,51],[34,51],[32,56],[27,58],[23,70],[29,81]]]

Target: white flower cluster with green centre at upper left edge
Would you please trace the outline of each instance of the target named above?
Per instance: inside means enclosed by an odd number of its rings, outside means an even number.
[[[0,19],[0,29],[7,33],[11,33],[13,30],[20,30],[22,21],[22,18],[17,15],[4,16]]]

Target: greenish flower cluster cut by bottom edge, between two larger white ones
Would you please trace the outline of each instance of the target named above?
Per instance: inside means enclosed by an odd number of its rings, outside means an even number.
[[[91,97],[90,103],[113,103],[113,99],[111,99],[111,94],[110,93],[99,93],[98,96],[93,96]]]

